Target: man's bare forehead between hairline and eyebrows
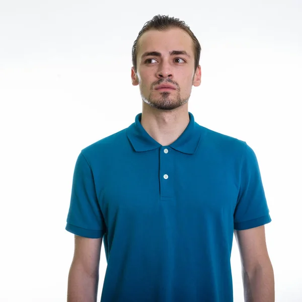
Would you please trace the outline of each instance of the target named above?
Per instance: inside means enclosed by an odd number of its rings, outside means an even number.
[[[137,45],[137,58],[146,51],[159,51],[166,54],[171,50],[185,50],[193,56],[192,38],[179,28],[164,31],[149,30],[140,36]]]

